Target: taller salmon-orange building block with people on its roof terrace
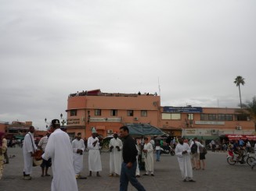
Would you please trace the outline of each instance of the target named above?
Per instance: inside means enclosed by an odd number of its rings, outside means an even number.
[[[67,133],[91,136],[92,126],[100,136],[112,135],[128,123],[159,126],[160,97],[156,94],[108,94],[100,90],[70,94],[67,101]]]

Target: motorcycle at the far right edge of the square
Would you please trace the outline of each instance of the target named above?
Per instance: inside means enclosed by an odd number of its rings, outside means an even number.
[[[238,159],[239,154],[236,154],[233,152],[233,150],[228,150],[228,155],[227,155],[227,162],[230,165],[235,165],[236,163],[240,163],[240,164],[248,164],[249,166],[251,166],[252,164],[254,164],[254,161],[256,160],[254,157],[250,156],[250,153],[247,153],[246,150],[242,150],[243,154],[242,157],[240,157],[240,159]]]

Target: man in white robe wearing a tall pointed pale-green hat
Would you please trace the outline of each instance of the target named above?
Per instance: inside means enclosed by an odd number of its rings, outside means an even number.
[[[99,139],[96,137],[97,132],[96,129],[92,128],[92,136],[88,138],[88,168],[90,174],[88,176],[92,176],[92,172],[97,172],[97,176],[99,172],[102,171],[100,153],[99,153]]]

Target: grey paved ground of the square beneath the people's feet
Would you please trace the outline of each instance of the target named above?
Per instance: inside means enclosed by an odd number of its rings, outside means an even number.
[[[9,164],[5,165],[4,175],[0,180],[0,191],[49,191],[51,177],[41,177],[41,168],[34,167],[32,180],[23,180],[23,154],[22,148],[8,148]],[[119,178],[109,177],[109,153],[102,152],[102,177],[93,174],[88,179],[78,179],[79,190],[118,191]],[[155,157],[155,156],[154,156]],[[256,169],[251,170],[247,164],[229,165],[226,162],[226,153],[208,152],[206,155],[206,170],[193,171],[197,182],[182,182],[178,168],[177,157],[161,155],[160,162],[154,164],[154,177],[141,176],[139,182],[147,191],[164,190],[256,190]],[[88,175],[88,153],[84,155],[83,175]],[[51,169],[49,173],[52,175]],[[145,172],[141,172],[141,175]],[[136,190],[129,185],[128,191]],[[71,191],[71,190],[70,190]]]

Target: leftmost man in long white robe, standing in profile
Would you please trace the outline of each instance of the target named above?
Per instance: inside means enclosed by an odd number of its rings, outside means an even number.
[[[34,143],[34,126],[30,126],[29,132],[24,137],[23,140],[23,158],[24,158],[24,168],[23,168],[23,179],[30,180],[32,168],[33,168],[33,157],[34,151],[38,150]]]

